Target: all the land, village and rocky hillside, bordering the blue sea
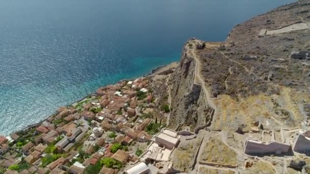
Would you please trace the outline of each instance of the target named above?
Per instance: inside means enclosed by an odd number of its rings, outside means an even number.
[[[310,173],[310,2],[0,136],[0,173]]]

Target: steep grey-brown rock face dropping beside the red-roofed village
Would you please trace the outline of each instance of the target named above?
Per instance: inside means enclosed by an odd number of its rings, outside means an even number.
[[[180,64],[172,74],[171,113],[169,126],[182,129],[190,126],[192,131],[210,120],[210,110],[203,99],[201,85],[194,83],[195,61],[184,48]]]

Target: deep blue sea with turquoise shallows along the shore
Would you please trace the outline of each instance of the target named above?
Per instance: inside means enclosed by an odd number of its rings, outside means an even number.
[[[293,0],[0,0],[0,134]]]

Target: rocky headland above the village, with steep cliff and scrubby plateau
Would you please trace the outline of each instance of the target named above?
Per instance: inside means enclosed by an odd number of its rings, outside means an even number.
[[[310,116],[309,26],[310,4],[299,1],[237,25],[224,42],[205,42],[201,49],[202,41],[189,40],[171,78],[169,126],[244,131],[257,121],[275,130],[300,126]],[[193,55],[203,84],[195,81]]]

